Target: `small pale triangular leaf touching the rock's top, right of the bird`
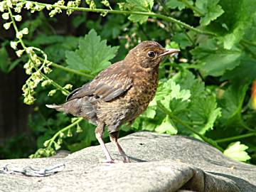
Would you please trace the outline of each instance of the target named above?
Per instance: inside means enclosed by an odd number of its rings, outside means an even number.
[[[156,127],[155,131],[167,134],[178,133],[178,130],[176,129],[174,122],[171,121],[171,118],[168,115],[166,115],[166,118],[163,120],[163,122],[158,127]]]

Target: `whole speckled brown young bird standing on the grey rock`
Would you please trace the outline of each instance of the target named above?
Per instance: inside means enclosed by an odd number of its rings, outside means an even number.
[[[95,134],[105,153],[107,163],[113,163],[102,141],[107,125],[110,140],[117,146],[124,162],[128,156],[117,142],[119,127],[132,123],[153,99],[158,84],[162,58],[179,50],[166,49],[155,41],[143,41],[129,51],[124,60],[110,65],[91,82],[73,90],[62,105],[46,105],[55,110],[83,117],[97,125]]]

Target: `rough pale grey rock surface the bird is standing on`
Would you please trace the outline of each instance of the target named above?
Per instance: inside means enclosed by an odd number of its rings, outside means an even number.
[[[131,164],[101,164],[100,146],[65,158],[1,160],[0,167],[65,169],[46,177],[0,174],[0,191],[256,191],[256,166],[223,156],[196,139],[137,132],[120,139]],[[122,160],[112,144],[107,148]]]

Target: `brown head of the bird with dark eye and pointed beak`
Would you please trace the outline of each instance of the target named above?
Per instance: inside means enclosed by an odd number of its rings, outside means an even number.
[[[156,41],[142,41],[129,51],[124,60],[128,63],[135,60],[143,68],[155,68],[166,55],[173,55],[179,51],[176,48],[163,48]]]

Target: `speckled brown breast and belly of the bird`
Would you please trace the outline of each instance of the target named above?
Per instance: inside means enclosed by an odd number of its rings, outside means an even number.
[[[134,121],[153,100],[158,85],[158,66],[154,69],[130,69],[132,87],[117,100],[100,102],[97,117],[103,120],[110,132],[116,132],[124,122]]]

